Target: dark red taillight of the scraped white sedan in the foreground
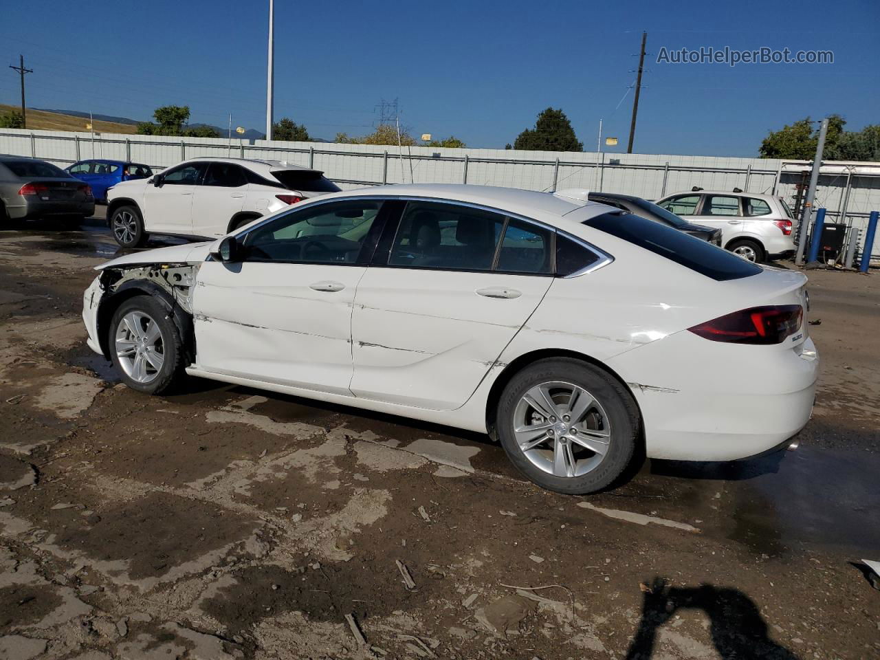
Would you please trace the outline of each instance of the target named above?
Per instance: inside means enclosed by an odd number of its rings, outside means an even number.
[[[799,304],[771,304],[752,307],[687,328],[703,339],[732,344],[779,344],[801,326]]]

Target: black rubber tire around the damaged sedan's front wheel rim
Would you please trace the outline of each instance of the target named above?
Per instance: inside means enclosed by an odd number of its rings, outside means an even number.
[[[117,331],[124,323],[123,319],[131,312],[145,314],[149,319],[155,321],[161,335],[161,368],[158,370],[153,369],[155,374],[152,375],[149,382],[139,382],[128,374],[126,368],[121,364],[121,359],[124,358],[120,358],[118,355],[119,351],[116,348]],[[110,347],[110,359],[113,361],[114,367],[119,370],[122,382],[133,390],[147,394],[161,394],[170,390],[174,385],[178,385],[186,376],[183,370],[183,341],[181,341],[180,332],[169,314],[167,306],[162,304],[156,297],[135,296],[123,302],[110,321],[110,326],[107,328],[107,345]],[[146,327],[149,327],[149,325]],[[141,329],[143,330],[143,326]]]

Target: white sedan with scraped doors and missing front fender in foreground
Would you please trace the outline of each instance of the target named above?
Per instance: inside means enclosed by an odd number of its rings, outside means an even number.
[[[191,374],[487,432],[562,493],[771,450],[813,403],[804,275],[583,190],[327,194],[98,269],[88,342],[136,390]]]

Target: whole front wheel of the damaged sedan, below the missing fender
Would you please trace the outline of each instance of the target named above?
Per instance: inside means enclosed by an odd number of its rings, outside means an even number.
[[[114,313],[108,332],[110,358],[128,387],[161,394],[183,378],[180,332],[156,298],[129,298]]]

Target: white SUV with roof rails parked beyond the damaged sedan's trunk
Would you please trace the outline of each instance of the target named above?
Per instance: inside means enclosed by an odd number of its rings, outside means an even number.
[[[690,223],[720,229],[722,246],[744,259],[761,262],[771,254],[795,251],[795,217],[788,204],[772,194],[695,187],[689,193],[668,194],[656,203]]]

